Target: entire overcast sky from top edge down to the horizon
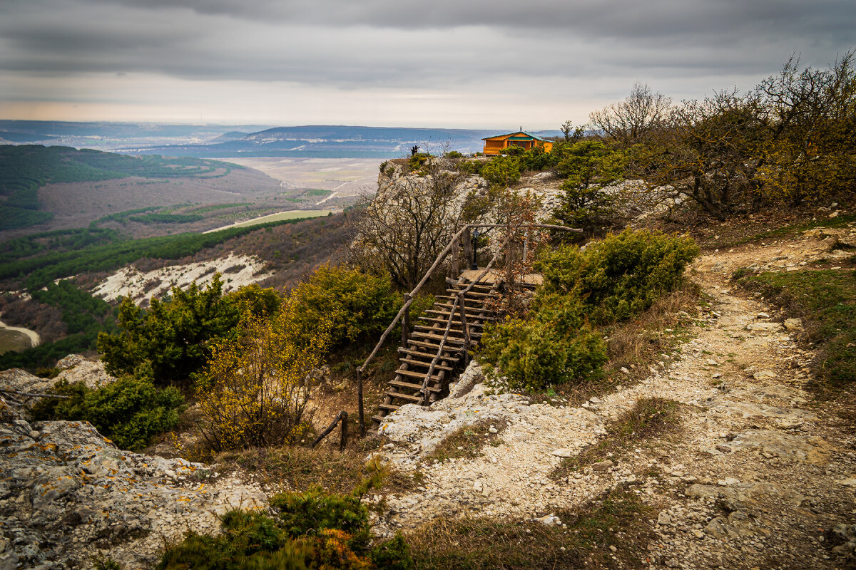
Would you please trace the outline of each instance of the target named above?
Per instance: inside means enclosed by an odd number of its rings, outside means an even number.
[[[853,0],[0,0],[0,119],[534,130],[853,47]]]

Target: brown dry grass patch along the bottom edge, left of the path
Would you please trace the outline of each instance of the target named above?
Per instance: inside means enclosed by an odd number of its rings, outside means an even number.
[[[409,532],[407,541],[419,570],[648,567],[651,512],[633,492],[619,487],[577,512],[557,511],[564,526],[441,518]]]

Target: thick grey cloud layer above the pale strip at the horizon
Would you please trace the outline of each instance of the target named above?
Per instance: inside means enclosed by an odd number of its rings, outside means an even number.
[[[753,77],[856,45],[853,0],[6,0],[0,70],[305,85],[627,91]],[[737,79],[735,79],[737,80]],[[661,89],[669,91],[669,85]],[[2,90],[2,88],[0,88]],[[2,95],[2,92],[0,92]]]

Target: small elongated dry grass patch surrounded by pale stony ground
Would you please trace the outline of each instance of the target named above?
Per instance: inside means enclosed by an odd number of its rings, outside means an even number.
[[[617,460],[633,446],[654,438],[680,432],[681,404],[661,397],[639,398],[624,414],[606,426],[606,436],[597,444],[591,444],[579,455],[566,457],[550,473],[552,479],[560,480],[582,467],[604,459]]]

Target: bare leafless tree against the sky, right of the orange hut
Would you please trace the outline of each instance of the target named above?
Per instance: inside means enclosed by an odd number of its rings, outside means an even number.
[[[653,129],[662,126],[669,115],[672,100],[652,93],[647,84],[636,83],[623,101],[591,112],[591,126],[623,146],[638,143]]]

